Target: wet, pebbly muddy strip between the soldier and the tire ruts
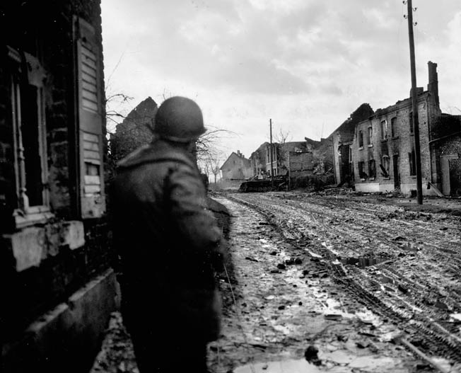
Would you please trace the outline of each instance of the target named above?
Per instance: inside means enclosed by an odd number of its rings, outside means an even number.
[[[365,310],[362,302],[345,294],[331,276],[304,275],[305,271],[308,274],[326,272],[326,263],[300,250],[293,240],[284,238],[283,230],[272,224],[266,214],[229,200],[226,201],[232,211],[229,248],[237,275],[233,290],[237,304],[225,302],[228,306],[223,336],[211,345],[211,367],[216,372],[230,372],[226,368],[235,367],[235,363],[302,358],[310,344],[319,350],[322,371],[335,367],[335,372],[355,372],[337,360],[345,358],[361,362],[369,359],[370,364],[386,361],[379,367],[363,366],[360,372],[413,372],[419,361],[385,336],[397,335],[399,328],[376,315],[372,318],[379,325],[363,321],[359,316]],[[301,263],[296,265],[295,261],[288,265],[288,258],[300,258]],[[286,263],[286,268],[277,270],[281,262]],[[225,299],[228,299],[228,287],[222,282]],[[329,301],[336,302],[337,306]],[[339,314],[330,315],[337,312]],[[340,316],[340,322],[326,315]],[[371,347],[357,347],[365,338],[372,339]],[[336,354],[339,357],[334,357]],[[341,357],[344,355],[346,357]]]

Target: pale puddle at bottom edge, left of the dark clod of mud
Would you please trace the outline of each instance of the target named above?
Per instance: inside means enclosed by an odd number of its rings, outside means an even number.
[[[243,365],[235,368],[234,373],[320,373],[315,365],[304,359],[285,360],[279,362],[258,362],[252,365]]]

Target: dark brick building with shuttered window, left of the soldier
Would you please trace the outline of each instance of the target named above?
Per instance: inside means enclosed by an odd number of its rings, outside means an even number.
[[[0,5],[2,372],[83,372],[116,306],[97,0]]]

